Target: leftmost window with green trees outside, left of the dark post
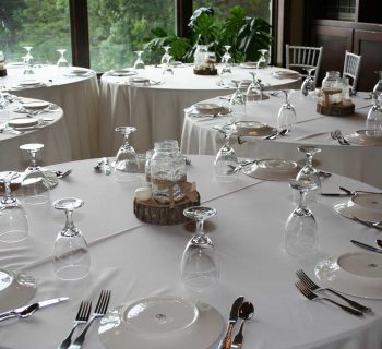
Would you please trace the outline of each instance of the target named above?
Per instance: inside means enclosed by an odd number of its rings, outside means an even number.
[[[35,63],[55,64],[57,49],[71,60],[68,0],[0,0],[0,50],[8,62],[20,62],[32,46]]]

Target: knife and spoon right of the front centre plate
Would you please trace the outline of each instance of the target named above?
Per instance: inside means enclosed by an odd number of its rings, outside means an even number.
[[[253,304],[251,302],[244,301],[243,296],[238,297],[231,305],[226,334],[222,339],[218,349],[240,349],[243,342],[244,323],[246,321],[252,318],[253,314]],[[238,333],[236,334],[232,340],[232,332],[238,318],[241,318],[242,322],[240,324]]]

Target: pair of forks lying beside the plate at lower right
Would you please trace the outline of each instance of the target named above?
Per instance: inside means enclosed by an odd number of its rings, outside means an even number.
[[[333,303],[337,306],[339,306],[345,312],[348,312],[356,316],[362,316],[366,313],[372,312],[371,308],[365,306],[331,288],[322,288],[319,285],[317,285],[302,269],[299,269],[296,272],[297,277],[299,278],[298,281],[295,282],[295,286],[297,289],[301,292],[302,296],[305,296],[307,299],[311,301],[317,300],[324,300],[326,302]],[[339,303],[338,301],[333,300],[329,297],[320,296],[320,292],[331,292],[335,294],[336,297],[341,298],[343,301],[345,301],[350,306],[347,306],[343,303]]]

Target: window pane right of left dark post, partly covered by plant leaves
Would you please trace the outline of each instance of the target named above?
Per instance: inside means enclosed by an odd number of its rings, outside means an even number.
[[[96,71],[131,67],[151,29],[175,33],[175,0],[87,0],[91,68]],[[142,57],[151,62],[150,52]]]

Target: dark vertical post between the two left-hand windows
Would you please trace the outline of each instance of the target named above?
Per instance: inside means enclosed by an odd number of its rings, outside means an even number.
[[[76,67],[91,67],[88,41],[87,0],[69,0],[70,27],[72,39],[72,63]]]

